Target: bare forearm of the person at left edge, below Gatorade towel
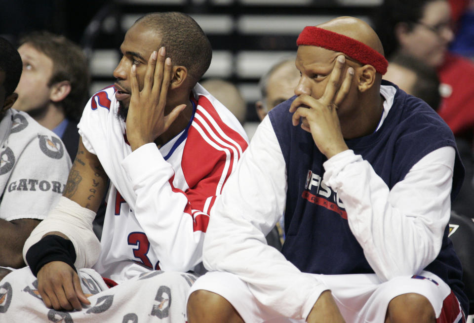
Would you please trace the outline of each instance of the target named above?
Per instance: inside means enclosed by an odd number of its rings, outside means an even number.
[[[0,266],[21,268],[23,261],[23,245],[32,230],[40,223],[36,219],[20,219],[5,221],[0,219]]]

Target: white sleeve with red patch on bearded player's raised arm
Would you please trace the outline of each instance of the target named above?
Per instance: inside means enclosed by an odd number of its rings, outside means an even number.
[[[204,202],[216,195],[224,167],[216,165],[197,188],[183,192],[173,186],[174,170],[154,143],[136,149],[121,164],[137,197],[135,217],[158,256],[160,268],[193,269],[201,262],[209,221]]]

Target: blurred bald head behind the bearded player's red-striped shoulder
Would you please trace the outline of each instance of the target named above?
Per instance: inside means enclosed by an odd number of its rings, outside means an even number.
[[[236,116],[240,124],[245,122],[247,105],[237,86],[222,79],[208,79],[199,82],[209,93]]]

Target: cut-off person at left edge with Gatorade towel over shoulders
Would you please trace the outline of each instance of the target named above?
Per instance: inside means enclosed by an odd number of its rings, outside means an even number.
[[[31,231],[61,197],[71,162],[63,143],[26,113],[10,109],[18,95],[21,58],[0,38],[0,266],[25,266]],[[9,270],[0,268],[0,280]]]

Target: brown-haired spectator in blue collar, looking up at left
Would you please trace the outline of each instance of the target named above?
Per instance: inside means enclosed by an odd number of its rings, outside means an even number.
[[[63,36],[34,32],[20,40],[23,73],[14,108],[27,112],[63,140],[72,161],[78,151],[77,123],[88,98],[87,60]]]

